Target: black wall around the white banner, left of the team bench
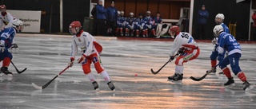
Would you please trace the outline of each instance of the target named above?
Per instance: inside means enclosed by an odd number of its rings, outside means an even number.
[[[59,0],[0,0],[8,10],[41,10],[41,33],[60,31]],[[69,33],[69,25],[77,20],[83,23],[89,17],[90,0],[63,0],[63,32]],[[51,24],[51,26],[50,26]]]

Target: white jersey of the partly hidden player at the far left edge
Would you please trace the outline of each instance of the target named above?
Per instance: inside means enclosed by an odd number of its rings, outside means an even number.
[[[13,22],[14,17],[10,13],[6,12],[6,15],[4,16],[0,14],[0,29],[11,27],[11,25],[13,25]]]

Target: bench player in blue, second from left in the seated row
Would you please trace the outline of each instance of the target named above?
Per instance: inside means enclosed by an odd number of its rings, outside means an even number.
[[[134,13],[132,12],[129,15],[130,17],[126,18],[126,36],[129,36],[130,33],[130,36],[134,37],[134,23],[136,18],[134,18]]]

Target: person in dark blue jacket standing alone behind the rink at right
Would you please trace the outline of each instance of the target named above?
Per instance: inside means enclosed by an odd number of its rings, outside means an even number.
[[[198,10],[198,37],[204,39],[206,36],[206,24],[209,13],[206,10],[205,5],[202,5],[202,9]]]

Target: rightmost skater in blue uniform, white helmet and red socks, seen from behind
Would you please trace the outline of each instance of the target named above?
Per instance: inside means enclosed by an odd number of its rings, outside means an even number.
[[[230,64],[232,71],[235,76],[238,76],[240,80],[243,82],[243,90],[249,91],[254,88],[249,82],[246,80],[246,75],[239,67],[239,59],[242,55],[242,49],[238,41],[232,36],[230,33],[224,32],[222,25],[216,25],[214,27],[214,36],[218,37],[218,54],[222,55],[226,50],[228,52],[228,56],[224,59],[220,60],[219,68],[222,69],[222,72],[228,78],[225,87],[234,86],[234,79],[231,76],[230,68],[227,68],[227,65]]]

